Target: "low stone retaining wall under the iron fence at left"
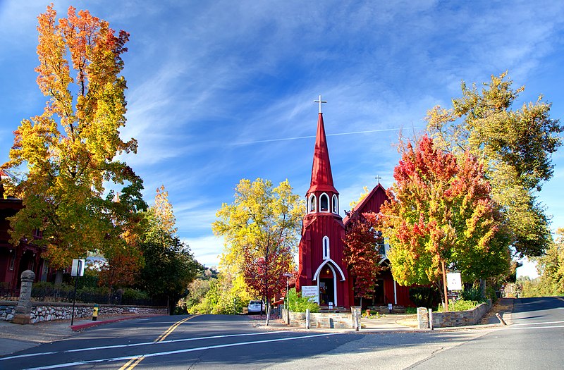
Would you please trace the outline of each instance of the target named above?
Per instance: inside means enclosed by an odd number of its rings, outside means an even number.
[[[11,321],[16,310],[17,302],[0,302],[0,320]],[[75,304],[75,318],[91,317],[94,304]],[[98,317],[117,316],[122,314],[168,314],[166,307],[133,307],[99,304]],[[32,302],[30,319],[32,323],[40,321],[54,321],[71,319],[72,303]]]

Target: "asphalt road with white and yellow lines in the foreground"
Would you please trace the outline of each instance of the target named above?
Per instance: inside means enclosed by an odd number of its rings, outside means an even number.
[[[513,325],[357,334],[265,331],[240,316],[159,316],[0,357],[0,369],[561,369],[564,299],[517,300]]]

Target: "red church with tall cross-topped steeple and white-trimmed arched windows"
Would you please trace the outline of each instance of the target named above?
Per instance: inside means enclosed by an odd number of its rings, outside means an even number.
[[[319,117],[313,156],[312,178],[305,195],[307,214],[302,223],[302,239],[299,245],[299,267],[296,288],[315,290],[321,307],[355,306],[353,278],[349,276],[343,262],[345,225],[348,217],[339,215],[339,193],[333,185],[329,149],[327,147],[321,97],[319,97]],[[386,191],[380,184],[362,202],[355,206],[355,211],[378,212],[386,200]],[[386,252],[389,246],[381,249],[380,264],[389,266]],[[363,301],[363,306],[401,305],[413,306],[408,295],[409,287],[398,285],[389,269],[380,274],[372,302]]]

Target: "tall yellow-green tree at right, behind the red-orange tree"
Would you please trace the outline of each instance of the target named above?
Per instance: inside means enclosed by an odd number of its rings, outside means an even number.
[[[482,91],[462,82],[462,97],[450,109],[435,106],[427,113],[427,129],[439,148],[482,161],[517,254],[540,256],[551,235],[537,192],[552,178],[551,154],[562,144],[564,128],[550,118],[551,104],[542,97],[512,109],[525,87],[513,90],[506,77],[492,75]]]

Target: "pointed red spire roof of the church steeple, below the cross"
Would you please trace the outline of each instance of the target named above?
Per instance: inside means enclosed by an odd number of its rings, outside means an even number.
[[[329,161],[329,149],[325,137],[325,125],[323,113],[319,112],[317,120],[317,135],[315,137],[315,152],[313,154],[312,180],[307,194],[311,192],[333,192],[338,194],[333,186],[333,174],[331,173],[331,162]]]

